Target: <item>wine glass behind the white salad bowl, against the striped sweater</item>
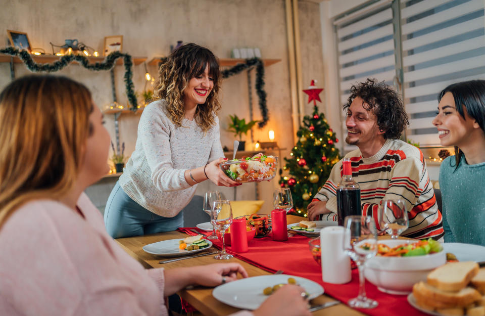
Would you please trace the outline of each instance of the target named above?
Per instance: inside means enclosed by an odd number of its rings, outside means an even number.
[[[380,231],[397,239],[409,227],[408,212],[402,200],[382,200],[377,213]]]

